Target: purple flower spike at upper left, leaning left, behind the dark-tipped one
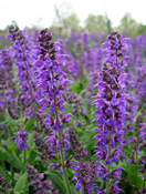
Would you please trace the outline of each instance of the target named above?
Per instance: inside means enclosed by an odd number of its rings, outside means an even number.
[[[35,115],[38,108],[38,94],[35,84],[33,82],[32,74],[32,44],[29,35],[25,34],[25,30],[21,31],[18,27],[9,27],[10,41],[13,43],[13,57],[15,58],[15,64],[18,67],[18,76],[20,83],[20,90],[23,93],[23,103],[27,105],[25,112],[32,119]]]

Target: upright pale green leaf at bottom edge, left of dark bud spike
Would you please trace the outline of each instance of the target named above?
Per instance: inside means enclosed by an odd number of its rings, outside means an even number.
[[[28,173],[24,173],[17,182],[14,186],[14,194],[27,194],[29,193],[29,181]]]

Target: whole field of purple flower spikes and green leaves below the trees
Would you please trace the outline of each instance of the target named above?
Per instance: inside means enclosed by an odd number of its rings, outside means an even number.
[[[0,193],[146,194],[146,35],[6,40]]]

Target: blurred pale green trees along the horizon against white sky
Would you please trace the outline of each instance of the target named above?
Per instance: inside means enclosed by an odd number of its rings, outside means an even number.
[[[52,24],[46,28],[49,28],[52,32],[60,34],[61,37],[70,37],[72,30],[87,33],[94,32],[97,35],[108,34],[112,31],[118,31],[119,33],[124,33],[127,37],[132,38],[140,33],[146,33],[146,24],[138,23],[132,18],[132,14],[129,12],[123,16],[119,24],[116,28],[113,28],[112,21],[109,20],[106,10],[104,16],[90,13],[82,24],[79,16],[73,11],[72,7],[69,3],[62,3],[60,6],[54,4],[54,20]],[[42,29],[42,20],[43,19],[39,18],[36,24],[33,24],[31,28],[25,27],[28,29],[28,33],[32,33],[33,30]],[[12,24],[17,25],[17,22],[12,21]],[[6,37],[7,33],[8,27],[6,27],[4,30],[0,30],[0,38]],[[3,42],[0,44],[3,44]]]

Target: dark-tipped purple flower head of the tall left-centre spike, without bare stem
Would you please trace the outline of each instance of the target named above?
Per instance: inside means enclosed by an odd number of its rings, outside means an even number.
[[[64,100],[61,96],[63,90],[67,90],[65,86],[69,80],[63,78],[61,65],[64,65],[64,55],[56,54],[60,47],[58,43],[51,43],[52,34],[48,29],[42,30],[39,34],[40,47],[36,47],[39,60],[35,61],[38,88],[41,90],[40,105],[44,111],[50,108],[50,113],[55,115],[52,120],[50,114],[46,114],[45,125],[49,129],[58,131],[62,129],[62,123],[69,122],[69,116],[63,115]],[[58,111],[61,113],[56,115]]]

